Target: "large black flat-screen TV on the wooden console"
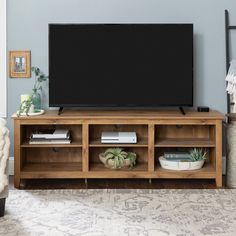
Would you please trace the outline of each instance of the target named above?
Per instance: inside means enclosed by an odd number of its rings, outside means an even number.
[[[193,24],[50,24],[51,107],[193,105]]]

